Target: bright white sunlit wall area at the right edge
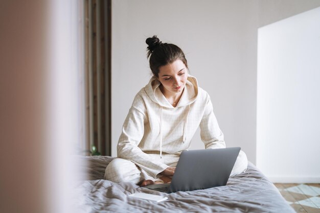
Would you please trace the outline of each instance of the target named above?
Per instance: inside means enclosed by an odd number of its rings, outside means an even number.
[[[320,7],[259,29],[257,166],[320,182]]]

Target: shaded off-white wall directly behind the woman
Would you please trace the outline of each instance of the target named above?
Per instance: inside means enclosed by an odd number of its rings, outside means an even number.
[[[184,50],[191,74],[211,96],[228,147],[256,162],[258,27],[320,6],[319,0],[112,1],[112,149],[136,94],[150,78],[145,39]],[[196,132],[192,149],[203,145]]]

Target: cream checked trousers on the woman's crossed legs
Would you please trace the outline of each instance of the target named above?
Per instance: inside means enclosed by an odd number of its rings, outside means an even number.
[[[159,158],[158,153],[148,154],[151,155],[151,157]],[[179,155],[163,153],[162,159],[159,160],[168,165],[169,167],[176,167],[177,162],[179,160]],[[247,165],[247,156],[243,151],[240,151],[230,176],[234,176],[244,172],[247,169]],[[153,177],[149,176],[144,170],[139,168],[130,160],[119,157],[113,159],[108,164],[105,170],[104,179],[110,180],[115,183],[133,182],[135,184],[139,184],[143,180],[159,181],[159,179],[154,179]]]

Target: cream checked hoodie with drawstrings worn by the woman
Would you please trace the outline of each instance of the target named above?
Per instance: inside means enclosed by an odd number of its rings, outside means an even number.
[[[117,147],[118,157],[134,162],[153,178],[168,167],[160,161],[162,152],[180,155],[189,149],[198,127],[205,149],[225,148],[209,94],[198,87],[195,77],[188,75],[176,107],[168,102],[159,85],[152,77],[136,94]],[[159,151],[159,159],[145,151]]]

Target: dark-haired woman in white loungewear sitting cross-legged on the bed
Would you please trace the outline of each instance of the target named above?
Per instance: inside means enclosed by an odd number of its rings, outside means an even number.
[[[205,149],[225,148],[209,94],[188,74],[182,50],[156,36],[146,43],[153,77],[136,94],[119,138],[118,158],[105,172],[105,179],[117,183],[170,182],[198,127]],[[246,155],[240,151],[231,175],[246,168]]]

